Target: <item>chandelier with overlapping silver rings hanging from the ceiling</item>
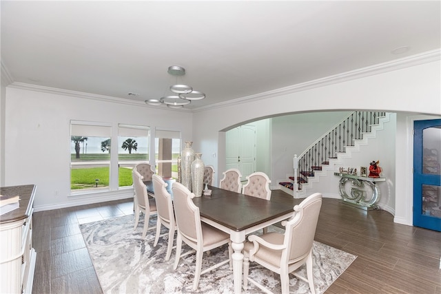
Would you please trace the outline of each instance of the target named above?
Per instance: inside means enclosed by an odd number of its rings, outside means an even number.
[[[176,76],[176,84],[170,86],[171,95],[164,95],[159,99],[147,99],[145,103],[148,105],[167,105],[170,108],[182,108],[184,105],[192,103],[192,100],[201,100],[205,98],[203,92],[193,90],[189,85],[178,84],[178,76],[185,75],[185,68],[172,65],[168,67],[167,72]]]

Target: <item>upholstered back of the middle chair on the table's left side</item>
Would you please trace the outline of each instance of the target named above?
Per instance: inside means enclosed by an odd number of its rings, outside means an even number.
[[[158,217],[170,223],[174,220],[172,196],[167,192],[167,183],[163,178],[154,174],[152,176],[154,200],[156,201],[156,210]]]

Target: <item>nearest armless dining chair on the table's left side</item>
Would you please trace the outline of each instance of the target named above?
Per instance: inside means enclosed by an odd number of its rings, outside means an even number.
[[[194,251],[181,254],[182,242],[185,242],[192,249],[196,250],[196,271],[192,291],[196,291],[201,275],[217,269],[219,266],[229,262],[232,269],[232,246],[229,233],[220,231],[205,222],[201,222],[199,208],[193,203],[194,193],[190,192],[184,185],[174,182],[172,185],[173,206],[178,225],[178,235],[176,237],[176,258],[174,269],[177,269],[181,257]],[[210,266],[202,271],[202,258],[205,251],[215,249],[223,244],[228,244],[228,259]]]

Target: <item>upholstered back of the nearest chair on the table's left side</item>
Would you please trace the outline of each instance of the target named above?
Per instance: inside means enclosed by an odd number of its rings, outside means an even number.
[[[199,207],[194,205],[192,200],[194,193],[180,182],[173,183],[172,191],[174,214],[179,233],[183,238],[195,244],[202,244],[201,215]]]

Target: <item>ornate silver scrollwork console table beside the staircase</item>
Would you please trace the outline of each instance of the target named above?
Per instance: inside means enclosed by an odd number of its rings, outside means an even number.
[[[380,201],[380,191],[377,182],[384,182],[385,178],[369,178],[351,174],[334,173],[340,176],[338,182],[338,192],[342,196],[342,203],[349,204],[366,211],[378,209]],[[347,193],[347,184],[350,184],[349,194]],[[370,195],[370,198],[368,195]]]

